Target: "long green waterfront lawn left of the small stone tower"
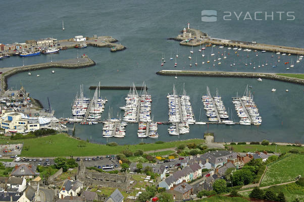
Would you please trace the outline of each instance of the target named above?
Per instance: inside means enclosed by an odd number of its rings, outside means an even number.
[[[119,145],[107,146],[102,144],[88,143],[82,140],[77,140],[69,137],[66,134],[56,134],[46,137],[30,138],[23,140],[5,140],[0,143],[24,143],[27,150],[22,149],[20,156],[23,157],[69,157],[69,156],[100,156],[100,155],[115,155],[122,150],[129,148],[132,151],[142,149],[143,151],[164,149],[175,147],[180,144],[195,142],[196,144],[204,143],[204,139],[191,139],[183,141],[165,142],[162,144],[136,144],[136,145]],[[85,145],[85,146],[84,146]]]

